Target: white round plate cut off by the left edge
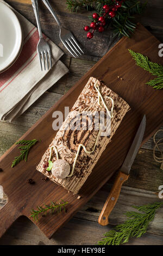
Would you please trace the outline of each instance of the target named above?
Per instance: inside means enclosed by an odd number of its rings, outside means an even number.
[[[14,63],[22,47],[22,30],[14,12],[0,3],[0,72]]]

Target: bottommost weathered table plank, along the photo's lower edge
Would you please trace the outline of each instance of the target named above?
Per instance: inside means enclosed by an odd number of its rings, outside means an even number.
[[[4,234],[0,245],[96,245],[110,228],[110,225],[101,228],[96,222],[72,218],[48,240],[32,222],[21,217]],[[131,239],[127,245],[162,245],[162,236],[145,234],[140,239]]]

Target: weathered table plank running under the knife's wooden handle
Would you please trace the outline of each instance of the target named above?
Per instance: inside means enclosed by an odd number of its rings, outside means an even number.
[[[105,184],[100,191],[76,214],[76,217],[89,221],[98,221],[99,214],[103,208],[106,198],[111,189],[110,184]],[[126,220],[124,213],[134,210],[131,205],[143,205],[158,202],[158,194],[151,191],[140,190],[122,186],[120,197],[117,200],[114,210],[109,216],[109,223],[117,225]],[[148,233],[163,235],[163,208],[157,212],[154,221],[150,224]]]

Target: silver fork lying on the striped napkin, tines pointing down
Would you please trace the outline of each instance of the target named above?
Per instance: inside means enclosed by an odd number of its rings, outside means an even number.
[[[41,25],[40,25],[40,16],[39,16],[39,6],[38,6],[38,0],[31,0],[32,6],[34,9],[34,14],[36,17],[37,22],[37,28],[39,31],[39,42],[37,44],[37,53],[40,60],[41,70],[42,70],[42,63],[44,66],[44,69],[49,70],[49,68],[52,68],[52,56],[51,56],[51,48],[49,47],[48,43],[43,39],[42,32],[41,32]]]

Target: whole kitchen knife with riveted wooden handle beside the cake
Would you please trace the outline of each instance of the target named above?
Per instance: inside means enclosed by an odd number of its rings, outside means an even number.
[[[108,217],[117,202],[117,199],[121,192],[121,187],[123,182],[126,181],[129,177],[129,172],[134,162],[134,159],[136,157],[136,154],[140,148],[143,135],[145,133],[145,129],[146,129],[146,115],[143,116],[139,129],[136,132],[134,141],[131,144],[131,147],[128,151],[126,159],[124,160],[120,170],[118,171],[118,175],[116,177],[114,185],[111,188],[109,197],[106,199],[101,215],[98,218],[98,223],[101,225],[109,224]]]

